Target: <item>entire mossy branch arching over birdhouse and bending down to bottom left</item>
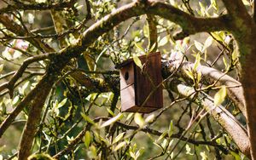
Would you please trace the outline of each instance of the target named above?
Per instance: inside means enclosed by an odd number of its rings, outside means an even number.
[[[173,22],[176,22],[178,25],[182,26],[183,30],[188,31],[189,34],[194,34],[195,32],[200,31],[220,31],[229,29],[227,27],[228,22],[226,21],[225,15],[218,18],[199,19],[186,14],[179,9],[173,8],[168,4],[160,3],[158,1],[150,1],[147,4],[140,2],[127,4],[124,7],[113,11],[113,13],[108,14],[94,25],[90,26],[90,28],[84,31],[84,33],[81,35],[79,43],[70,45],[66,49],[61,49],[60,53],[56,54],[55,59],[51,60],[49,69],[44,78],[38,83],[36,88],[32,89],[30,96],[21,101],[22,104],[19,104],[19,111],[21,111],[24,105],[28,103],[28,100],[32,100],[33,98],[38,97],[38,93],[35,92],[39,92],[39,89],[45,90],[43,96],[45,100],[50,89],[45,89],[42,84],[49,82],[46,83],[46,86],[48,88],[52,87],[57,76],[60,74],[60,71],[67,65],[68,61],[74,57],[78,57],[79,54],[83,53],[91,43],[96,41],[97,37],[101,36],[105,32],[112,30],[113,27],[117,26],[120,22],[141,14],[155,14],[160,15],[167,20],[172,20]],[[32,95],[32,93],[35,95]],[[19,158],[26,159],[26,157],[28,157],[30,154],[32,140],[27,140],[27,137],[29,135],[32,135],[33,137],[33,135],[36,133],[37,125],[40,119],[40,113],[44,106],[44,103],[42,102],[44,100],[39,98],[33,100],[33,104],[35,105],[31,108],[29,115],[30,118],[26,123],[26,129],[20,141],[20,146],[26,145],[26,148],[20,148],[20,150],[22,150],[20,151],[20,156],[22,157]],[[37,115],[34,116],[32,111],[37,111]],[[36,123],[32,123],[32,121]]]

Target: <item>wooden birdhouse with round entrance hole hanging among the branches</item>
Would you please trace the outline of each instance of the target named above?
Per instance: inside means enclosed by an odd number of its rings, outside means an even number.
[[[120,69],[121,111],[149,113],[163,106],[160,52],[138,57],[143,70],[133,59],[125,60]],[[158,87],[158,88],[157,88]]]

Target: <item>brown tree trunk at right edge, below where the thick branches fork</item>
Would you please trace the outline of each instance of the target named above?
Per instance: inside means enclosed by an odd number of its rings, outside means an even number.
[[[237,40],[241,54],[241,83],[247,112],[247,130],[251,143],[251,156],[256,159],[256,27]],[[235,36],[236,37],[236,36]]]

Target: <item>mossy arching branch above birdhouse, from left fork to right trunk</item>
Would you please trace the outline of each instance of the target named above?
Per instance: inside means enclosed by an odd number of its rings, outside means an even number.
[[[110,31],[113,26],[141,14],[159,15],[166,20],[171,20],[180,25],[183,31],[188,34],[201,31],[230,30],[229,20],[227,20],[228,15],[225,14],[217,18],[195,18],[193,15],[160,1],[134,2],[114,10],[113,13],[106,15],[102,20],[90,26],[84,31],[78,43],[61,50],[61,56],[68,57],[68,59],[78,57],[89,47],[90,43],[94,42],[103,33]]]

